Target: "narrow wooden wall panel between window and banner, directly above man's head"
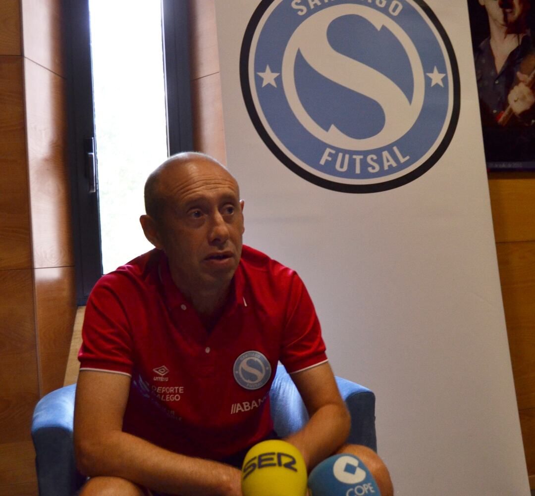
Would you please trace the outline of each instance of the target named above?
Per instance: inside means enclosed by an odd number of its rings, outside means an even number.
[[[219,73],[192,81],[193,148],[226,164]]]

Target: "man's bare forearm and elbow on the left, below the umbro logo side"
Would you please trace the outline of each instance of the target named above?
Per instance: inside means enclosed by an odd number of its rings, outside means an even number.
[[[130,381],[123,374],[80,371],[74,409],[80,470],[184,496],[241,496],[238,469],[172,453],[122,431]]]

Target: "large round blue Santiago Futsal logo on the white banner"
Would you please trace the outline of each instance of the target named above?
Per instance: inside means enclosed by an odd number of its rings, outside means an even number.
[[[258,134],[323,188],[400,187],[429,170],[453,137],[457,63],[423,0],[263,0],[240,57]]]

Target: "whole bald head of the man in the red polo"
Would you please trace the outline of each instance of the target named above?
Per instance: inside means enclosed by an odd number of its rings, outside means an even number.
[[[145,204],[141,227],[165,252],[175,285],[197,311],[210,299],[215,308],[241,258],[243,200],[234,177],[207,155],[180,153],[149,176]]]

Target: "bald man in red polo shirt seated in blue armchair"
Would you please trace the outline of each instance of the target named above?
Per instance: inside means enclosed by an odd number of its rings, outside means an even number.
[[[243,200],[217,161],[170,158],[145,200],[155,250],[102,277],[87,304],[74,418],[91,477],[82,495],[240,496],[246,450],[273,437],[279,359],[310,413],[287,440],[311,469],[343,444],[349,416],[300,278],[242,246]],[[375,453],[346,449],[392,494]]]

